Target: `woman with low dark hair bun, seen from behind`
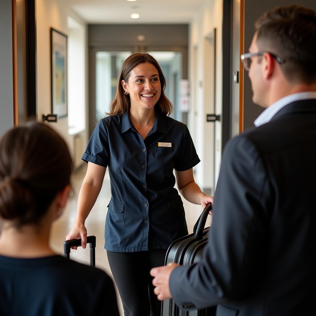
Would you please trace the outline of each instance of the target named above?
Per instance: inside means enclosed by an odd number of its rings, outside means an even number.
[[[28,123],[0,140],[1,316],[119,315],[105,272],[66,260],[49,246],[71,171],[67,145],[48,125]]]

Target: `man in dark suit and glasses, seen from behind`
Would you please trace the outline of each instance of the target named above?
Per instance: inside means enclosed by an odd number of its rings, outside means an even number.
[[[249,53],[257,127],[225,148],[198,264],[151,270],[155,294],[216,315],[316,315],[316,13],[279,7]]]

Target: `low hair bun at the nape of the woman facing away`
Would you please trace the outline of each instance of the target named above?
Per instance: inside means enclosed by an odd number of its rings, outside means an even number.
[[[31,192],[23,185],[23,181],[5,177],[0,182],[0,217],[7,220],[28,217],[34,207]],[[27,221],[27,220],[26,220]]]

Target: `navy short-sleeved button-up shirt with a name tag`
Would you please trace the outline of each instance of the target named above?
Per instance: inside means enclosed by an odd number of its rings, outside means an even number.
[[[165,249],[188,234],[173,169],[191,169],[200,159],[185,124],[157,110],[143,140],[128,112],[108,116],[95,127],[82,159],[109,169],[105,249]]]

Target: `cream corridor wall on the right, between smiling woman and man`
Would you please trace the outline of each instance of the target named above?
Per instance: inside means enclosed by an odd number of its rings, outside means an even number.
[[[191,109],[189,113],[189,129],[201,162],[195,167],[195,180],[201,188],[212,189],[216,183],[221,160],[222,131],[221,124],[216,122],[215,155],[214,146],[210,139],[214,137],[213,128],[206,122],[206,112],[209,111],[204,103],[204,41],[216,28],[216,101],[215,112],[222,114],[222,15],[223,0],[205,0],[198,10],[189,29],[189,78],[191,80]],[[196,58],[194,57],[196,54]],[[197,67],[194,69],[194,67]],[[194,74],[196,76],[194,80]],[[215,157],[215,158],[212,158]],[[215,162],[214,162],[215,159]],[[214,170],[215,163],[215,170]]]

